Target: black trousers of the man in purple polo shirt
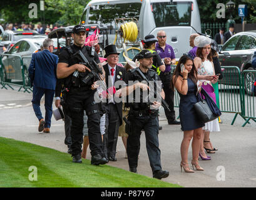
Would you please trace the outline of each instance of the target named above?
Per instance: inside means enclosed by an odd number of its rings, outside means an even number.
[[[163,91],[165,92],[165,101],[169,106],[170,111],[165,109],[165,116],[168,121],[175,120],[174,111],[174,91],[171,89],[171,74],[160,74],[161,83],[163,84]]]

